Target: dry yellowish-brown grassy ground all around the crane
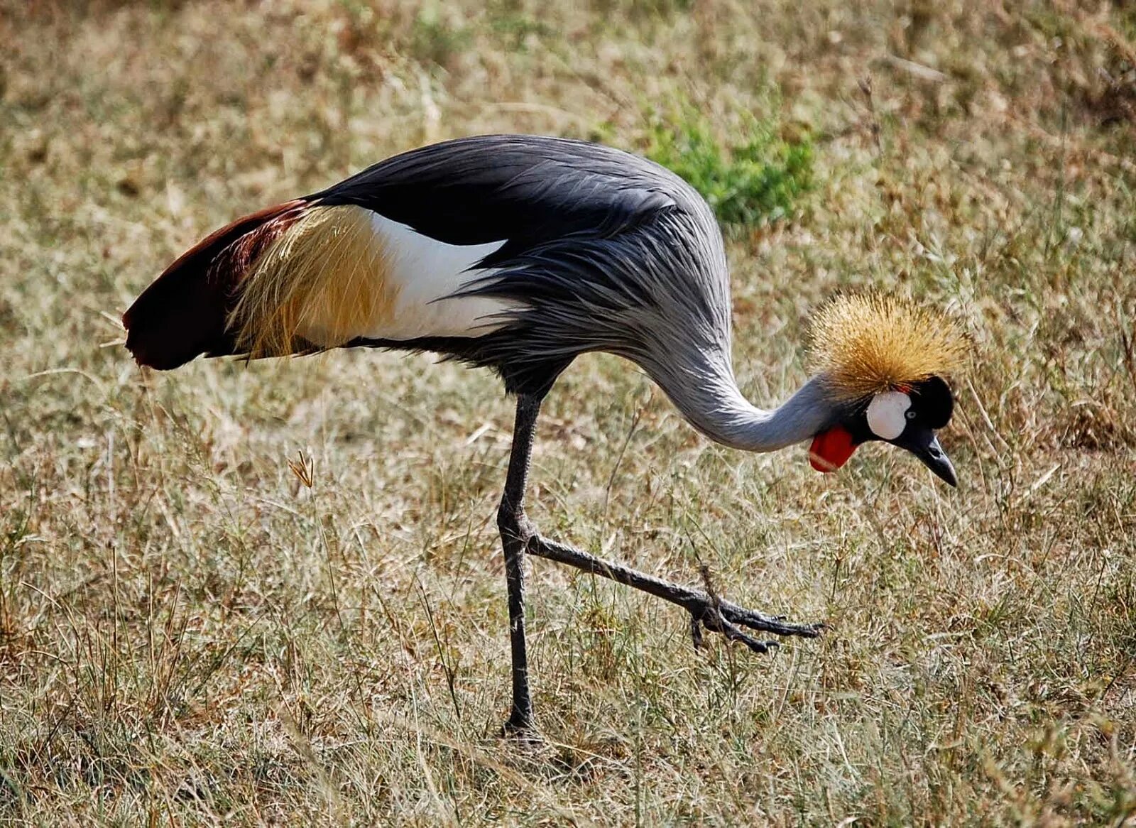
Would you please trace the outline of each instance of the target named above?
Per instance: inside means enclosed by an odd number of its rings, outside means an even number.
[[[1130,5],[3,0],[0,43],[0,822],[1131,823]],[[811,191],[729,233],[746,391],[803,380],[838,287],[946,306],[962,485],[727,451],[579,360],[538,525],[832,632],[699,653],[670,605],[535,561],[532,758],[495,735],[496,382],[145,374],[117,318],[208,231],[396,150],[645,151],[674,111],[811,144]]]

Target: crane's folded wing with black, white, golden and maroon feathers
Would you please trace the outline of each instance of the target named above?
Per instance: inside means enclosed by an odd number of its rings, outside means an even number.
[[[479,291],[487,275],[557,243],[626,234],[687,203],[684,187],[582,141],[485,135],[411,150],[211,235],[127,311],[127,348],[173,368],[202,352],[482,336],[523,301]]]

